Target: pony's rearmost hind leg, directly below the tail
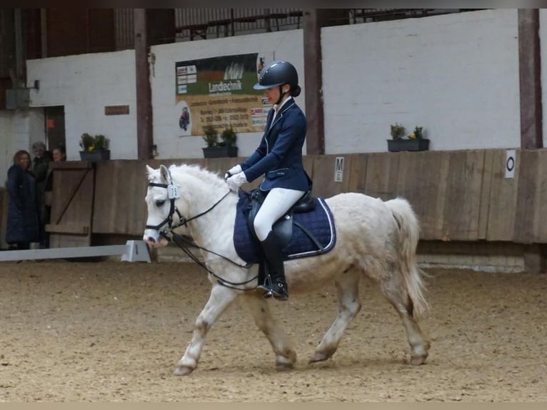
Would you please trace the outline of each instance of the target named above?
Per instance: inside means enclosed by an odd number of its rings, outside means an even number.
[[[414,317],[413,303],[403,285],[401,274],[392,271],[391,275],[380,281],[384,296],[393,305],[406,331],[408,344],[411,346],[411,364],[423,364],[428,356],[429,342],[423,337],[420,326]]]

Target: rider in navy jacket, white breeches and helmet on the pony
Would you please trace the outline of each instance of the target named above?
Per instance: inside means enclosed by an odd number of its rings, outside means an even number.
[[[311,190],[311,179],[303,168],[302,147],[306,139],[306,116],[293,97],[300,94],[298,73],[288,61],[273,61],[259,75],[254,89],[264,90],[273,108],[266,120],[264,136],[249,158],[226,172],[224,178],[232,191],[264,175],[260,184],[266,199],[254,219],[268,275],[259,289],[264,296],[288,299],[281,246],[273,223]]]

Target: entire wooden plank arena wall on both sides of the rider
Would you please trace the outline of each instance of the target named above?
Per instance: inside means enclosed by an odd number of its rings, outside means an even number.
[[[506,150],[385,152],[306,156],[313,195],[363,192],[403,196],[421,220],[421,239],[547,244],[547,150],[517,150],[514,179],[505,178]],[[334,181],[336,156],[343,180]],[[191,163],[225,171],[241,158],[111,160],[96,165],[92,234],[141,236],[146,221],[146,164]],[[253,188],[258,181],[249,186]]]

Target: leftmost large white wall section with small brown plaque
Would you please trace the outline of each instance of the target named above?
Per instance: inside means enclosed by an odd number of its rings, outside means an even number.
[[[26,62],[31,106],[64,106],[66,154],[79,160],[81,134],[110,139],[111,159],[135,159],[136,91],[134,50],[81,54]],[[104,106],[129,105],[129,115],[104,115]]]

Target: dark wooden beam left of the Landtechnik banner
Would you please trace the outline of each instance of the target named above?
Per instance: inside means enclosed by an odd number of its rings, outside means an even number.
[[[152,101],[146,9],[134,9],[137,156],[153,159]]]

